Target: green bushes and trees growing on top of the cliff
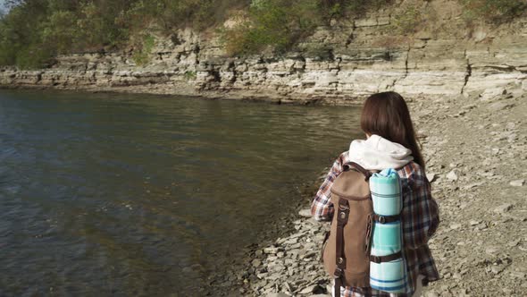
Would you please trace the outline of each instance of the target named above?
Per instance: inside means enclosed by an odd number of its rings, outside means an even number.
[[[430,0],[429,0],[430,1]],[[467,22],[508,21],[525,13],[527,0],[456,0]],[[414,11],[395,16],[402,33],[414,30]],[[130,47],[136,64],[146,64],[155,38],[192,27],[207,30],[242,12],[222,30],[230,55],[265,49],[285,52],[332,20],[347,19],[389,5],[382,0],[8,0],[0,19],[0,65],[38,68],[57,54],[103,52]],[[411,18],[407,17],[411,15]]]

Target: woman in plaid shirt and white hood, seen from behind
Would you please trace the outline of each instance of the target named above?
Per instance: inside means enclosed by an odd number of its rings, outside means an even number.
[[[414,125],[404,98],[396,92],[383,92],[366,99],[361,128],[367,140],[354,140],[342,153],[317,192],[311,211],[318,221],[330,220],[334,207],[330,188],[343,165],[355,162],[367,170],[399,168],[403,189],[403,246],[408,284],[403,296],[419,296],[422,284],[439,279],[431,257],[428,239],[439,225],[439,209],[431,198],[431,184],[424,172],[424,159],[415,140]],[[343,287],[341,296],[397,296],[372,288]],[[399,294],[400,296],[401,294]]]

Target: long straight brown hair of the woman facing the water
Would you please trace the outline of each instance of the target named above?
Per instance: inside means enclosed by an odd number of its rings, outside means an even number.
[[[417,144],[414,124],[401,95],[396,92],[382,92],[367,98],[361,115],[361,128],[364,133],[377,134],[412,150],[414,162],[424,170],[424,159]]]

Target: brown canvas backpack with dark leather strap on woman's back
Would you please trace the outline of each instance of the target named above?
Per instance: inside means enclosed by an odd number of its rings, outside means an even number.
[[[322,247],[322,261],[335,277],[335,296],[340,296],[340,286],[370,286],[371,176],[361,165],[349,163],[330,189],[335,213]]]

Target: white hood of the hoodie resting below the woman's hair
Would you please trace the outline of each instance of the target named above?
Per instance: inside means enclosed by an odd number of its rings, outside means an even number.
[[[367,170],[400,168],[414,160],[412,150],[375,134],[367,140],[353,140],[348,155],[351,162]]]

